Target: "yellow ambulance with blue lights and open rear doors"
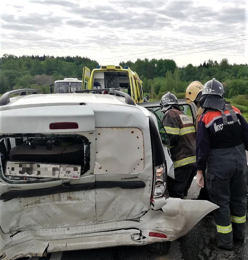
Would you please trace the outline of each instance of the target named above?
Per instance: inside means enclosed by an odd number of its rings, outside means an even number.
[[[90,73],[90,69],[83,68],[82,90],[118,89],[129,94],[135,103],[147,101],[144,97],[142,81],[138,74],[128,66],[98,65]],[[107,90],[100,91],[107,94]]]

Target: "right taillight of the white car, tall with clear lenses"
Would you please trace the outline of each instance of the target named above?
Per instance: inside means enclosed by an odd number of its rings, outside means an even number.
[[[162,197],[166,189],[165,165],[155,167],[153,198]]]

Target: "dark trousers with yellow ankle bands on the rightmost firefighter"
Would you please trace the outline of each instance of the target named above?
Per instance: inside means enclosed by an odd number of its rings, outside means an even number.
[[[246,231],[247,161],[244,145],[210,150],[206,186],[214,211],[217,245],[232,247]]]

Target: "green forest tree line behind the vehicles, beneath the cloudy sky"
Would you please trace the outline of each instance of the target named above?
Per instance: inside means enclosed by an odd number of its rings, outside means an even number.
[[[82,79],[83,67],[91,70],[98,62],[81,56],[14,56],[5,54],[0,58],[0,94],[18,88],[35,88],[49,93],[49,84],[64,78]],[[120,62],[136,71],[143,80],[143,88],[153,99],[159,99],[167,91],[184,97],[189,83],[194,80],[204,84],[216,78],[224,85],[226,97],[248,95],[248,65],[229,64],[228,59],[204,61],[198,66],[188,64],[178,67],[172,59],[137,59]]]

